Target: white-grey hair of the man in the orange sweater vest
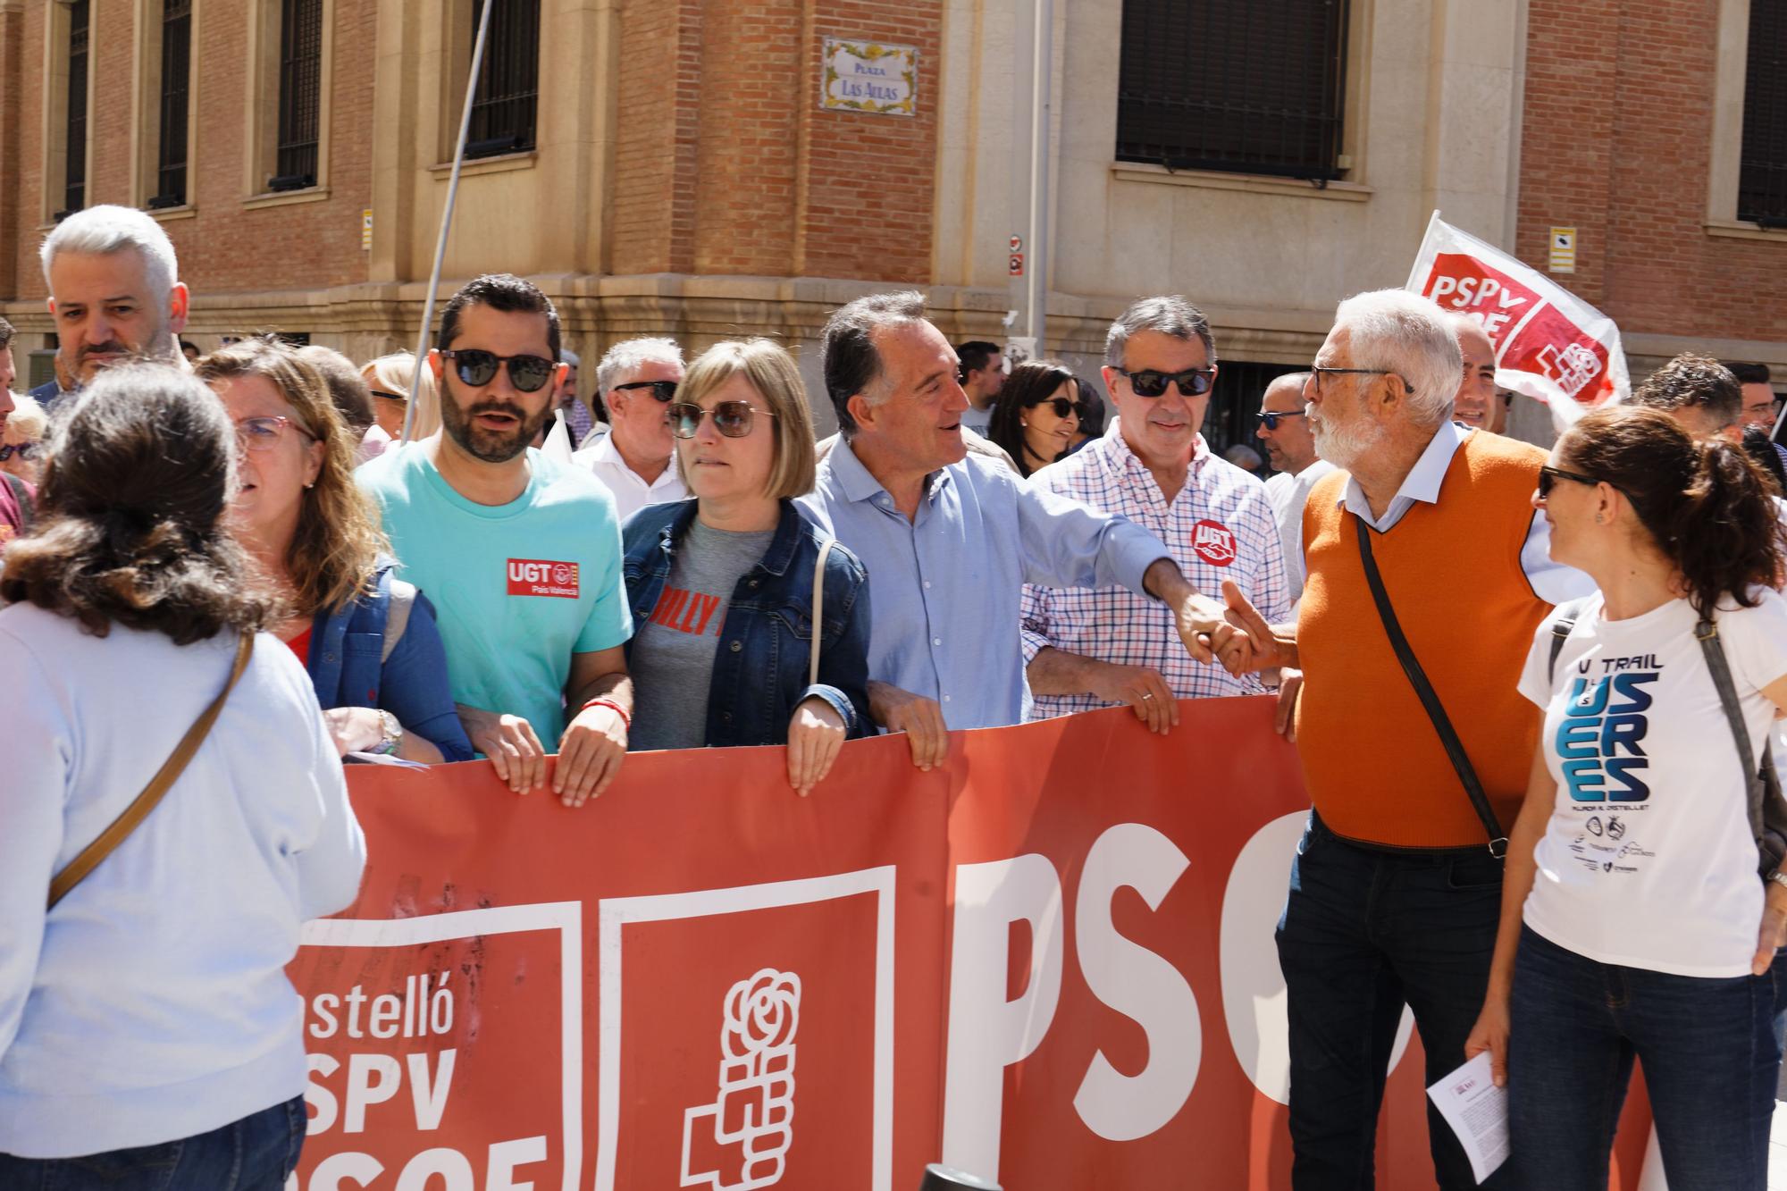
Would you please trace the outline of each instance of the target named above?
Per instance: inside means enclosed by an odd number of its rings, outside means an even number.
[[[1451,417],[1464,381],[1464,352],[1451,320],[1433,300],[1408,290],[1355,293],[1335,309],[1346,327],[1355,368],[1385,368],[1408,384],[1408,410],[1419,426]]]

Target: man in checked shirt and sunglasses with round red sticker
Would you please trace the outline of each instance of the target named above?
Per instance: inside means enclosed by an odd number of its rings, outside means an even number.
[[[1203,311],[1178,295],[1142,299],[1104,336],[1117,429],[1031,483],[1149,529],[1197,590],[1233,579],[1262,610],[1288,619],[1290,583],[1265,485],[1212,454],[1197,433],[1215,377]],[[1265,690],[1253,674],[1194,662],[1172,613],[1124,588],[1026,585],[1020,617],[1033,719],[1126,703],[1165,733],[1179,719],[1174,699]]]

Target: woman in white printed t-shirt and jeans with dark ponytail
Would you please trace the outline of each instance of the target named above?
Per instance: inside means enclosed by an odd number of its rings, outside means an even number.
[[[1769,488],[1737,445],[1615,408],[1558,440],[1533,501],[1551,558],[1601,590],[1562,642],[1539,628],[1521,678],[1544,728],[1465,1055],[1489,1050],[1508,1085],[1519,1186],[1607,1187],[1639,1059],[1671,1191],[1764,1191],[1787,876],[1757,876],[1696,626],[1717,631],[1760,756],[1787,708]]]

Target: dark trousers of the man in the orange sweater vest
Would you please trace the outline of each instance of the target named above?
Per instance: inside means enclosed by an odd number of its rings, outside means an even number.
[[[1501,862],[1487,844],[1378,851],[1340,839],[1310,814],[1278,921],[1296,1191],[1374,1186],[1378,1107],[1403,1003],[1415,1012],[1433,1084],[1464,1062],[1499,914]],[[1428,1146],[1444,1191],[1474,1191],[1471,1162],[1431,1103]],[[1483,1186],[1521,1184],[1503,1166]]]

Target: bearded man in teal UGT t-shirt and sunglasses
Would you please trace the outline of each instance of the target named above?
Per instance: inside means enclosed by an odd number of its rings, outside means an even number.
[[[466,284],[429,352],[441,429],[359,469],[402,576],[434,603],[472,746],[509,789],[545,780],[566,805],[600,794],[627,749],[633,635],[615,499],[527,447],[565,367],[558,313],[509,274]]]

